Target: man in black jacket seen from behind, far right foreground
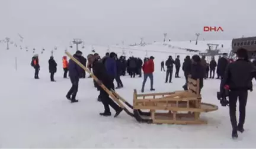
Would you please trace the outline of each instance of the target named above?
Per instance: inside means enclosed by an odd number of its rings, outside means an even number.
[[[247,105],[248,90],[252,91],[252,77],[255,67],[247,59],[248,53],[245,48],[239,48],[236,52],[238,60],[230,63],[226,68],[220,83],[220,93],[224,92],[225,86],[229,89],[229,116],[232,125],[232,138],[237,138],[237,131],[244,132],[245,107]],[[239,122],[236,121],[236,102],[239,100]]]

